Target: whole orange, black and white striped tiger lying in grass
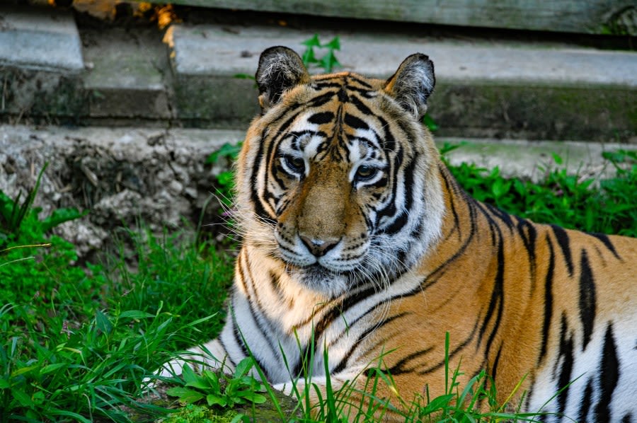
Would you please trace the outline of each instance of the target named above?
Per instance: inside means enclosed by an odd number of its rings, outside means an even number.
[[[484,369],[500,402],[515,393],[512,407],[546,422],[637,422],[637,239],[469,197],[423,124],[425,54],[383,80],[311,76],[270,47],[256,83],[228,318],[191,349],[205,366],[253,357],[289,393],[306,368],[321,390],[365,389],[381,362],[393,384],[374,395],[396,400],[446,393],[448,360],[460,382]]]

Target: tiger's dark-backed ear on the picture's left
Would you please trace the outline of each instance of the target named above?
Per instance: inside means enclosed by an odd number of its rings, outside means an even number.
[[[285,91],[310,81],[299,54],[282,46],[270,47],[261,53],[255,77],[263,111],[277,104]]]

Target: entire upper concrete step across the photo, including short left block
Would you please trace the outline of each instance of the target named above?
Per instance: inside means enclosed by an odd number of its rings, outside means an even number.
[[[58,27],[67,40],[52,35]],[[258,112],[257,93],[253,81],[236,74],[253,75],[258,55],[272,45],[302,53],[302,41],[315,33],[323,42],[340,37],[343,67],[337,70],[369,76],[388,77],[408,54],[428,54],[437,76],[430,115],[442,136],[637,143],[635,52],[529,40],[441,40],[387,26],[374,32],[186,22],[165,33],[84,26],[78,32],[68,13],[49,8],[0,8],[0,118],[245,129]],[[32,46],[36,38],[40,50]],[[79,41],[81,51],[73,50]],[[64,46],[66,64],[52,62],[48,56],[65,57],[58,52]],[[14,50],[34,53],[25,62]]]

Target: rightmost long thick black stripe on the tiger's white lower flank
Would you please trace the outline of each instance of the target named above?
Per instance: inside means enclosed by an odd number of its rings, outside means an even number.
[[[617,346],[613,336],[613,325],[609,323],[606,335],[604,335],[602,361],[599,362],[599,402],[597,402],[597,407],[595,407],[596,422],[611,421],[610,403],[618,382],[619,359],[617,358]]]

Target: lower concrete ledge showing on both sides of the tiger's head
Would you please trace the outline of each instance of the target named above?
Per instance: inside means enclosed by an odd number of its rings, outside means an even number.
[[[214,167],[206,157],[224,143],[235,144],[243,132],[222,129],[139,129],[90,127],[0,126],[0,190],[11,198],[28,191],[38,172],[42,177],[35,205],[42,216],[59,207],[90,209],[82,219],[57,228],[77,245],[80,255],[101,250],[113,229],[132,226],[142,218],[155,230],[180,226],[182,218],[197,224],[219,221],[219,203],[213,199],[215,175],[229,168]],[[554,166],[558,153],[571,173],[599,175],[610,170],[602,151],[626,146],[583,142],[469,140],[439,137],[464,144],[447,154],[453,164],[499,166],[503,175],[539,179],[537,166]]]

